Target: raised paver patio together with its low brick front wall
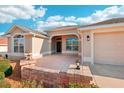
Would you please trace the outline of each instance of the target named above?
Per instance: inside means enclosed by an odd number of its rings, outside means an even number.
[[[76,59],[78,55],[56,54],[42,57],[33,64],[21,65],[21,79],[42,81],[45,87],[54,88],[69,87],[70,83],[94,84],[89,66],[81,65],[80,70],[77,70]]]

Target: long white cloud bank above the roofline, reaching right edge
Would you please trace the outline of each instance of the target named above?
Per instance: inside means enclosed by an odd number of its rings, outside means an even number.
[[[118,17],[124,17],[124,6],[111,6],[103,10],[96,10],[94,13],[86,17],[75,17],[75,16],[64,17],[61,15],[50,16],[45,21],[37,22],[36,25],[38,30],[41,29],[44,30],[44,29],[66,26],[66,25],[92,24]]]

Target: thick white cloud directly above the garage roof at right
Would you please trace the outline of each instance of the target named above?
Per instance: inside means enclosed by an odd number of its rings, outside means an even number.
[[[124,6],[112,6],[105,8],[104,10],[97,10],[90,16],[77,18],[76,22],[90,24],[119,17],[124,17]]]

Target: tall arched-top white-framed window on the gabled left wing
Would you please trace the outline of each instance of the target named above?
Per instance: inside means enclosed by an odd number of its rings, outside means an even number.
[[[22,35],[14,37],[14,52],[24,53],[24,37]]]

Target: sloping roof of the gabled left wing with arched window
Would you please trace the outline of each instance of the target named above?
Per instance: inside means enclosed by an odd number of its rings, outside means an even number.
[[[39,31],[36,31],[36,30],[33,30],[33,29],[31,29],[31,28],[28,28],[28,27],[25,27],[25,26],[21,26],[21,25],[14,25],[14,26],[16,26],[16,27],[22,29],[23,31],[25,31],[25,32],[27,32],[27,33],[34,33],[34,34],[38,34],[38,35],[40,35],[40,36],[42,36],[42,37],[47,37],[46,34],[44,34],[44,33],[42,33],[42,32],[39,32]],[[13,27],[14,27],[14,26],[13,26]],[[7,35],[7,34],[10,34],[10,31],[7,32],[6,35]]]

